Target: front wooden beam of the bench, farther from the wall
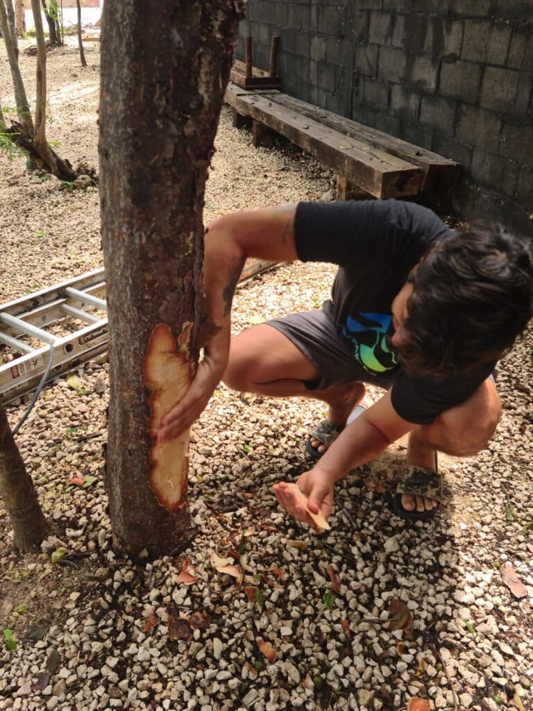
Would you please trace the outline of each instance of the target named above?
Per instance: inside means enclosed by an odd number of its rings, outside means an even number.
[[[240,87],[230,84],[225,101],[239,114],[250,116],[288,138],[376,198],[407,197],[419,192],[419,166],[302,116],[263,94],[245,95]]]

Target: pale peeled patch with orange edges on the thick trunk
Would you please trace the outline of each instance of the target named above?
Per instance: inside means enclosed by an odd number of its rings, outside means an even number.
[[[143,364],[144,381],[151,390],[150,486],[161,506],[171,512],[184,506],[189,431],[169,442],[158,442],[157,434],[163,417],[185,395],[192,377],[188,351],[192,326],[190,322],[183,324],[176,346],[171,329],[158,324],[151,333]]]

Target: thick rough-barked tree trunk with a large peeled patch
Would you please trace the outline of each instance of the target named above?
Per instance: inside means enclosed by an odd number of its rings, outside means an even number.
[[[143,5],[105,1],[99,112],[106,486],[114,545],[132,557],[171,553],[190,526],[188,437],[155,440],[202,345],[203,196],[241,3]]]

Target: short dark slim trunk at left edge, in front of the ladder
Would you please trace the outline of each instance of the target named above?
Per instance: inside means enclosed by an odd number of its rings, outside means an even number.
[[[16,547],[22,552],[38,548],[48,533],[48,523],[37,501],[33,481],[26,471],[2,405],[0,405],[0,496],[13,526]]]

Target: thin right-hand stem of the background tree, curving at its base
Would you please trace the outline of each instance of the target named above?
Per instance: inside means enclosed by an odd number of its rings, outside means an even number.
[[[35,149],[39,156],[41,156],[41,159],[45,161],[50,173],[61,180],[74,181],[77,177],[75,171],[72,170],[66,161],[60,159],[52,150],[50,150],[50,146],[48,146],[48,141],[46,140],[46,46],[39,0],[31,0],[31,9],[33,11],[33,21],[35,22],[37,41],[37,97],[33,146],[35,146]]]

